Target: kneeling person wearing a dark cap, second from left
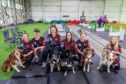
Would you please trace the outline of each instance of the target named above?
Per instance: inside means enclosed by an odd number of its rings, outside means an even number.
[[[45,39],[40,36],[40,30],[38,28],[34,29],[35,37],[31,40],[32,46],[34,48],[34,58],[33,62],[38,64],[43,64],[46,66],[46,63],[43,62],[43,51],[45,49]]]

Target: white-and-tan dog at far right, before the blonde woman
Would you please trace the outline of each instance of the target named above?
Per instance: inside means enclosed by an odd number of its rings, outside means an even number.
[[[102,53],[102,58],[100,60],[100,63],[97,69],[99,70],[102,65],[107,65],[107,72],[111,73],[110,66],[115,61],[116,57],[117,57],[116,52],[104,49]]]

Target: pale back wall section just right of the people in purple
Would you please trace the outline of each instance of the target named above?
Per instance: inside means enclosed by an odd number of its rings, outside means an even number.
[[[105,15],[109,21],[120,21],[123,0],[106,0]]]

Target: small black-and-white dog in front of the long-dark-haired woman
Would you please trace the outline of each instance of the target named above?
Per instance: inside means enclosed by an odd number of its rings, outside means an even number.
[[[64,67],[65,67],[65,73],[64,76],[67,75],[67,72],[69,69],[72,69],[73,74],[75,74],[75,65],[74,65],[74,60],[73,58],[76,56],[76,54],[72,54],[70,51],[69,53],[66,53],[67,57],[64,62]]]

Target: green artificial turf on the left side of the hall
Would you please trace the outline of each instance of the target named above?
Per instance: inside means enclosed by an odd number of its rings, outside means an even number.
[[[41,35],[42,35],[47,30],[48,27],[49,27],[49,24],[44,24],[44,23],[23,24],[23,25],[18,26],[20,31],[26,31],[29,34],[30,39],[33,38],[33,36],[34,36],[33,31],[35,28],[39,28],[41,31]],[[8,57],[9,53],[15,47],[16,46],[11,46],[11,47],[8,46],[7,48],[5,48],[2,30],[0,30],[0,68],[1,68],[1,65],[3,64],[4,60]],[[14,71],[2,72],[0,69],[0,80],[11,79],[13,74],[14,74]]]

